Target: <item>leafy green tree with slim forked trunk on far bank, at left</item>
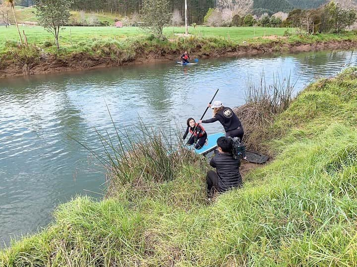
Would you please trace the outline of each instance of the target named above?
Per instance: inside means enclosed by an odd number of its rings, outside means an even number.
[[[60,49],[59,36],[60,27],[68,22],[70,13],[69,8],[73,0],[36,0],[39,24],[48,32],[55,36],[57,49]]]

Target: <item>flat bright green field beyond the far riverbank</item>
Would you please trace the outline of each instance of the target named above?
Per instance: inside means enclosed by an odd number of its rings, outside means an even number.
[[[216,37],[230,39],[236,42],[248,40],[255,37],[278,35],[282,36],[287,28],[262,28],[262,27],[204,27],[198,26],[195,29],[190,27],[189,33],[201,37]],[[36,45],[43,45],[45,41],[53,41],[53,35],[41,26],[20,26],[24,30],[28,42]],[[290,29],[290,31],[295,31]],[[183,33],[184,27],[167,27],[164,34],[172,38],[174,33]],[[60,44],[73,45],[83,41],[92,42],[93,39],[116,39],[125,40],[147,35],[138,27],[65,27],[60,31]],[[5,28],[0,26],[0,48],[4,48],[6,41],[17,41],[18,34],[15,26]]]

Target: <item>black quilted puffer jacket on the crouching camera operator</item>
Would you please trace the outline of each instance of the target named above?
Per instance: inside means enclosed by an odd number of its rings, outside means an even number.
[[[218,175],[218,191],[225,192],[232,187],[242,184],[239,173],[240,160],[234,159],[231,153],[218,153],[210,161],[210,165],[216,168]]]

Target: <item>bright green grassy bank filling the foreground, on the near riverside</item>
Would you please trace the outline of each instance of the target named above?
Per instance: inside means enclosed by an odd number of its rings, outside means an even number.
[[[275,160],[213,203],[204,161],[125,158],[108,199],[61,205],[0,265],[355,266],[356,114],[356,68],[310,85],[262,130]],[[160,176],[165,165],[175,172]]]

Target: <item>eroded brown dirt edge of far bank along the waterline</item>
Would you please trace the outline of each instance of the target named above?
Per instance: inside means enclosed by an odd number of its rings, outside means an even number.
[[[224,49],[211,49],[209,52],[203,51],[197,45],[191,49],[191,55],[200,58],[219,56],[246,56],[269,54],[274,52],[306,52],[329,49],[351,49],[357,46],[357,41],[329,41],[313,44],[281,44],[272,42],[264,45],[240,45],[227,46]],[[93,55],[88,53],[75,53],[67,57],[57,55],[46,55],[36,58],[24,68],[23,62],[16,59],[3,58],[0,62],[0,78],[14,76],[57,73],[74,70],[88,70],[101,67],[122,66],[126,64],[142,64],[156,61],[169,61],[178,59],[180,51],[158,50],[157,52],[137,51],[135,56],[127,60],[119,60],[113,56]]]

